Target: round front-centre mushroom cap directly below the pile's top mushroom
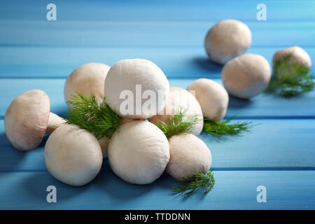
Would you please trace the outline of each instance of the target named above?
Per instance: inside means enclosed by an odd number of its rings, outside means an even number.
[[[109,164],[129,183],[147,184],[158,179],[169,162],[165,134],[146,120],[121,125],[109,141]]]

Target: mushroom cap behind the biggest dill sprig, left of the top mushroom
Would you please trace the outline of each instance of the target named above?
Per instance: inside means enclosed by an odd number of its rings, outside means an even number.
[[[100,94],[104,94],[104,81],[111,67],[102,63],[87,63],[74,70],[64,85],[64,99],[66,102],[72,99],[76,92],[82,92],[86,96],[94,93],[100,101]]]

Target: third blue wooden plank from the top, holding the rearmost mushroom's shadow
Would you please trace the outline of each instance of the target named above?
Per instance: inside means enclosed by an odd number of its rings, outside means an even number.
[[[280,47],[250,48],[269,63]],[[315,48],[304,48],[315,58]],[[158,64],[167,78],[221,78],[222,66],[211,62],[203,47],[197,48],[71,48],[0,47],[0,78],[66,78],[81,64],[113,65],[121,59],[145,58]]]

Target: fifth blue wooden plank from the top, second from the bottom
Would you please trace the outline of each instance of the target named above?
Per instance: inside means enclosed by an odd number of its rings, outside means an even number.
[[[219,141],[207,133],[199,136],[211,150],[214,169],[315,169],[315,120],[253,120],[253,125],[241,137]],[[0,172],[45,171],[46,140],[34,151],[17,151],[0,120]]]

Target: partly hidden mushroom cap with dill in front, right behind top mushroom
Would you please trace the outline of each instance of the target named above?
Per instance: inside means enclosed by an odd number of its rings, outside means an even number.
[[[177,112],[182,110],[185,112],[185,117],[196,115],[198,117],[197,123],[193,126],[192,134],[200,135],[204,127],[204,117],[202,116],[202,108],[193,94],[180,87],[170,87],[169,97],[165,108],[156,116],[148,118],[151,123],[157,124],[158,120],[167,122],[169,116],[174,116]],[[185,118],[184,118],[185,120]]]

